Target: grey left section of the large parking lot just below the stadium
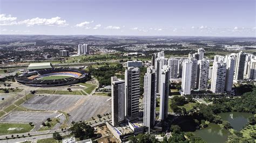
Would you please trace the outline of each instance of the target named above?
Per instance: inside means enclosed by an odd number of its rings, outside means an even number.
[[[33,110],[65,110],[76,105],[82,98],[83,96],[78,95],[36,95],[22,106]]]

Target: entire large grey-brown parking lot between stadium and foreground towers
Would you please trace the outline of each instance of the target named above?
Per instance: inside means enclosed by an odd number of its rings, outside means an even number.
[[[110,97],[83,95],[36,95],[22,104],[33,110],[62,110],[70,114],[71,121],[87,120],[98,114],[111,112]]]

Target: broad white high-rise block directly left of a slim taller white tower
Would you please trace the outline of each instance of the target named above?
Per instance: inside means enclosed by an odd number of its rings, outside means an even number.
[[[226,63],[213,62],[211,91],[214,94],[223,94],[225,89]]]

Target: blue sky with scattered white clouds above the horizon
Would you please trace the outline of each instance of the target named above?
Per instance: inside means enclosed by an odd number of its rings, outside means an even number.
[[[256,37],[256,1],[0,0],[0,34]]]

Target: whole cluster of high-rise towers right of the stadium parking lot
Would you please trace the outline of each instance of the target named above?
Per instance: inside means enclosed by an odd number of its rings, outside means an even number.
[[[214,94],[230,93],[233,81],[255,78],[256,60],[254,55],[239,52],[226,56],[215,55],[213,65],[204,58],[205,50],[199,48],[197,53],[188,58],[164,57],[164,52],[152,54],[151,66],[144,75],[143,125],[149,130],[156,123],[157,96],[160,97],[159,120],[168,115],[170,81],[181,77],[181,94],[190,95],[191,90],[210,90]],[[125,120],[139,117],[140,70],[138,67],[127,67],[125,80],[111,77],[112,125],[118,126]]]

